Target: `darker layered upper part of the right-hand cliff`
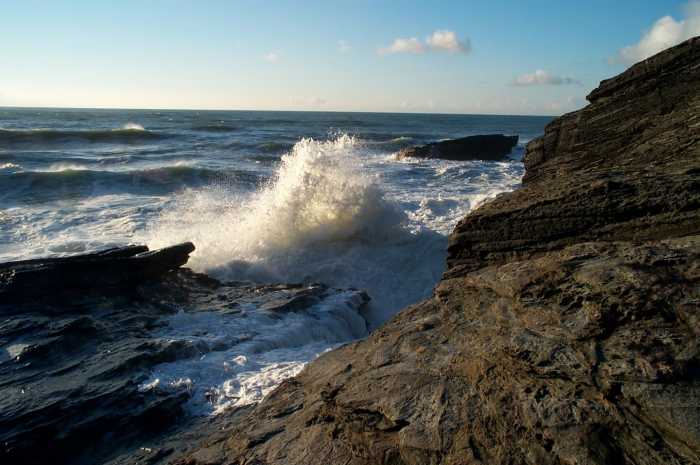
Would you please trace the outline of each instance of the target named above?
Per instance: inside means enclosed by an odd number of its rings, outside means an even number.
[[[698,231],[700,39],[603,81],[524,157],[523,188],[466,217],[449,276],[586,241]]]

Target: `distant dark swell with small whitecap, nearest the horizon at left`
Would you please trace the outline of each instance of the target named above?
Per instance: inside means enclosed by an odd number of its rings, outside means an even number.
[[[130,123],[120,129],[0,129],[0,144],[136,143],[168,137],[136,126]]]

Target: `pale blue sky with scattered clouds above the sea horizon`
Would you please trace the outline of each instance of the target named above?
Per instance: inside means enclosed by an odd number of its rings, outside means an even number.
[[[700,0],[3,0],[0,106],[559,115]]]

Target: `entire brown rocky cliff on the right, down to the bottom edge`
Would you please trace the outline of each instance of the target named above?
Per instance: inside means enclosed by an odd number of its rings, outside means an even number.
[[[700,463],[700,39],[604,81],[434,296],[182,463]]]

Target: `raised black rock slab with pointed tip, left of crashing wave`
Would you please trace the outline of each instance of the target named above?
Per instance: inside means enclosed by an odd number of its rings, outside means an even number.
[[[187,263],[191,242],[148,251],[143,245],[84,255],[0,263],[0,297],[6,302],[58,297],[157,278]]]

